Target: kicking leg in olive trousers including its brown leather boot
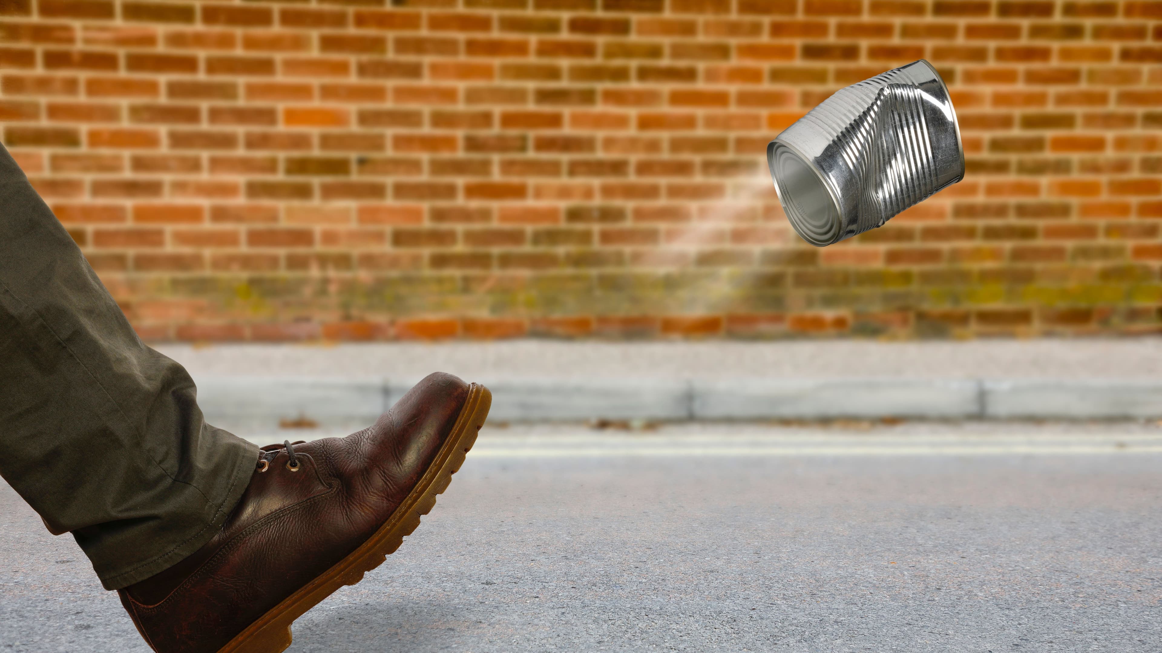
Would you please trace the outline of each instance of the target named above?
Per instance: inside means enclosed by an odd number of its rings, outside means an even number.
[[[158,653],[278,653],[436,504],[492,394],[431,374],[368,429],[259,450],[202,421],[0,148],[0,474]]]

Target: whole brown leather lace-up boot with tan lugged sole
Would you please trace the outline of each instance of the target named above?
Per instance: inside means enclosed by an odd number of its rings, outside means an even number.
[[[158,653],[277,653],[290,623],[363,580],[436,504],[492,393],[451,374],[411,388],[345,438],[263,447],[250,487],[206,546],[119,591]]]

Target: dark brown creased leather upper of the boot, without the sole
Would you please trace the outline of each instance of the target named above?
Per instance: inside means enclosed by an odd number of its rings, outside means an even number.
[[[431,374],[373,426],[294,445],[297,472],[280,451],[206,546],[120,590],[142,636],[158,653],[214,653],[343,560],[416,486],[467,396],[460,379]]]

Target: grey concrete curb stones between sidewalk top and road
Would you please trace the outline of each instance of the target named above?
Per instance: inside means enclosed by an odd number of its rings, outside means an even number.
[[[413,379],[201,376],[199,404],[223,428],[304,417],[370,424]],[[924,379],[481,379],[495,422],[580,419],[1112,419],[1162,417],[1162,381]]]

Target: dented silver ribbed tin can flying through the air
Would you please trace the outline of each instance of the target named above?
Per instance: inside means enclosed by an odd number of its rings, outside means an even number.
[[[822,247],[963,179],[964,146],[920,59],[835,92],[767,145],[767,165],[791,227]]]

